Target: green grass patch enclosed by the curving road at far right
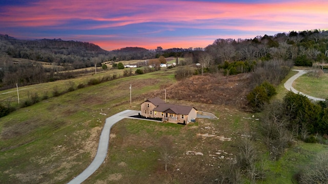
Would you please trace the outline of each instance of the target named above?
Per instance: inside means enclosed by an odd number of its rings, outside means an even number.
[[[297,78],[293,87],[303,94],[317,98],[328,98],[328,74],[324,74],[319,79],[313,74],[304,74]]]

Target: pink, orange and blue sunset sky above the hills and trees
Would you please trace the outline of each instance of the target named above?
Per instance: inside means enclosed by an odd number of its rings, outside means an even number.
[[[245,39],[328,30],[327,0],[0,0],[0,34],[124,47],[204,48]]]

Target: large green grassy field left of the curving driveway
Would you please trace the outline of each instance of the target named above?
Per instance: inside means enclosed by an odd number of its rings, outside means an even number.
[[[167,75],[161,75],[163,73]],[[3,183],[67,183],[93,159],[105,119],[130,107],[130,84],[133,86],[132,109],[139,109],[138,95],[150,88],[158,89],[160,83],[173,82],[171,75],[170,71],[160,71],[157,75],[149,73],[100,83],[49,98],[1,118],[0,180]],[[60,82],[66,81],[57,81],[57,84]],[[38,91],[37,87],[47,84],[27,87]]]

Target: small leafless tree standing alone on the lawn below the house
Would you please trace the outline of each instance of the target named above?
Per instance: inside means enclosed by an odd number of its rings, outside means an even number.
[[[168,164],[171,162],[173,154],[173,142],[170,137],[163,136],[160,139],[160,155],[161,160],[165,164],[165,171],[168,170]]]

